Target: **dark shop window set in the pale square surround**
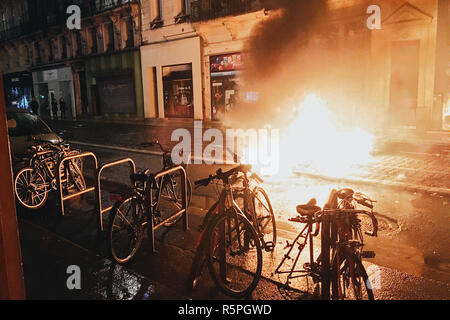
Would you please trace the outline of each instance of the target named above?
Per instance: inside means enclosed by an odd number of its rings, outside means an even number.
[[[164,113],[167,118],[193,118],[192,64],[163,67]]]

